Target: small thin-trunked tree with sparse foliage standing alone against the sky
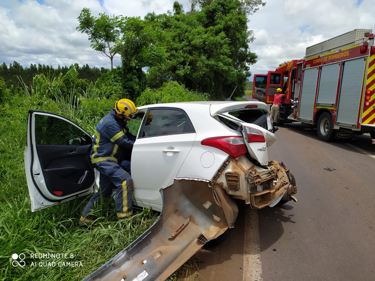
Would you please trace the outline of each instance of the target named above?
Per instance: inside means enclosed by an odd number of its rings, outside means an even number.
[[[99,13],[99,17],[96,18],[91,15],[90,9],[83,8],[77,19],[80,25],[76,29],[89,35],[89,40],[92,43],[91,47],[109,57],[111,69],[113,69],[113,58],[117,54],[116,41],[121,35],[119,16]]]

